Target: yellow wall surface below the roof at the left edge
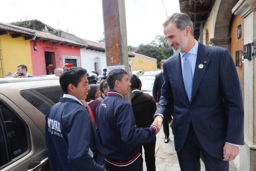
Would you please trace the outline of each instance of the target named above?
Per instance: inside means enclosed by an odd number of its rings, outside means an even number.
[[[4,77],[8,72],[16,72],[19,65],[26,65],[28,73],[33,75],[30,41],[25,40],[24,37],[12,38],[8,34],[0,35],[0,41],[0,50],[2,51],[0,68],[3,69],[3,72],[0,72],[0,77]]]

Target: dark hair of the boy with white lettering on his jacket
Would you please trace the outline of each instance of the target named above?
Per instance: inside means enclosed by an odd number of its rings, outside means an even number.
[[[75,87],[77,87],[78,83],[81,81],[81,78],[86,75],[86,73],[86,69],[80,67],[65,68],[59,77],[59,83],[63,93],[68,94],[69,84],[73,84]]]

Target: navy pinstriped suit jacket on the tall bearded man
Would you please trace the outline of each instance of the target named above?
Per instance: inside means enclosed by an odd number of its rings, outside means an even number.
[[[199,69],[202,64],[203,68]],[[164,61],[160,106],[156,114],[174,110],[174,140],[183,147],[190,123],[204,150],[223,159],[225,142],[244,144],[244,109],[236,67],[227,49],[199,44],[193,89],[188,100],[180,54]],[[174,109],[172,109],[174,103]]]

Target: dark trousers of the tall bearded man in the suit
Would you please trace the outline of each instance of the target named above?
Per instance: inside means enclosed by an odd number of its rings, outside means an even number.
[[[181,151],[177,152],[181,171],[200,171],[200,153],[204,158],[206,171],[228,171],[229,163],[210,156],[202,148],[190,124],[186,142]]]

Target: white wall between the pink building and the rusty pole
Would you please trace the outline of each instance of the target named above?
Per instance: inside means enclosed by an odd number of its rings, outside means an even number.
[[[94,51],[86,48],[80,49],[81,67],[86,69],[89,74],[95,71],[94,62],[99,62],[99,74],[102,75],[103,69],[106,68],[106,53]]]

